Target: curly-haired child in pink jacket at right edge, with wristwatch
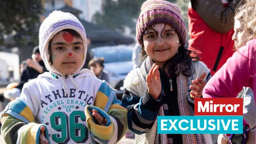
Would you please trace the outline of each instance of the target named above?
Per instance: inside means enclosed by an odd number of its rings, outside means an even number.
[[[241,22],[241,30],[237,35],[239,35],[241,39],[236,41],[236,46],[239,45],[239,47],[242,47],[236,49],[237,51],[233,54],[233,56],[227,60],[220,70],[217,71],[216,74],[205,85],[203,90],[204,98],[236,98],[243,86],[246,86],[252,89],[254,101],[256,102],[256,29],[254,28],[256,25],[256,13],[254,12],[256,8],[255,5],[255,0],[247,0],[246,4],[239,8],[240,10],[245,10],[246,13],[243,19],[239,20]],[[237,12],[237,15],[238,14],[239,10]],[[248,42],[246,43],[246,41]],[[240,143],[243,144],[255,143],[255,127],[252,129],[248,127],[249,125],[244,120],[244,135],[239,135],[238,137],[236,137],[237,135],[231,135],[229,142],[235,143],[238,139],[240,139]],[[236,137],[236,140],[233,139],[234,137]],[[226,144],[227,140],[223,140],[225,138],[227,139],[228,137],[224,136],[220,139],[219,136],[218,143]]]

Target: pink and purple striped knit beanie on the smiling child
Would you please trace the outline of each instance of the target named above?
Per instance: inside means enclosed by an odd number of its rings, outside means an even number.
[[[136,37],[140,45],[145,30],[157,23],[172,26],[180,38],[180,43],[185,45],[187,32],[181,19],[180,9],[177,5],[164,0],[147,0],[142,4],[136,24]]]

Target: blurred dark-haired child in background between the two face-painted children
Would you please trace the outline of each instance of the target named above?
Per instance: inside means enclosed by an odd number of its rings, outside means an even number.
[[[97,78],[109,82],[108,72],[104,68],[104,58],[95,59],[89,61],[88,67],[93,71]]]

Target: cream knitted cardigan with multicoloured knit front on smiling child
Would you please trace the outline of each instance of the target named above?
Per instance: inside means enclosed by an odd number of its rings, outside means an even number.
[[[147,61],[147,62],[146,62]],[[145,76],[147,75],[147,71],[145,71],[145,67],[152,66],[153,61],[144,60],[141,68],[136,68],[132,70],[128,76],[124,80],[124,88],[126,88],[129,92],[132,92],[135,95],[143,97],[147,92],[147,83],[145,80]],[[178,88],[178,102],[179,102],[179,111],[180,116],[194,116],[194,112],[192,107],[188,104],[187,96],[189,85],[191,85],[191,81],[197,77],[199,77],[202,73],[208,74],[210,70],[203,62],[192,62],[193,68],[195,72],[193,76],[186,77],[182,73],[177,76],[177,88]],[[130,109],[130,107],[128,108]],[[129,110],[128,110],[129,111]],[[159,109],[158,116],[164,116],[163,106]],[[166,134],[157,134],[157,119],[155,120],[152,128],[140,135],[135,135],[136,143],[140,144],[153,144],[158,143],[161,139],[161,143],[167,143],[167,135]],[[210,134],[182,134],[183,144],[211,144],[212,139]]]

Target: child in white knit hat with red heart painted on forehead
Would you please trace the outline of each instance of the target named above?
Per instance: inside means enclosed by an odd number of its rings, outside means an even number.
[[[39,49],[49,72],[24,84],[20,98],[5,108],[5,142],[119,141],[127,130],[127,110],[105,81],[81,69],[87,52],[81,22],[70,13],[52,12],[40,27]]]

